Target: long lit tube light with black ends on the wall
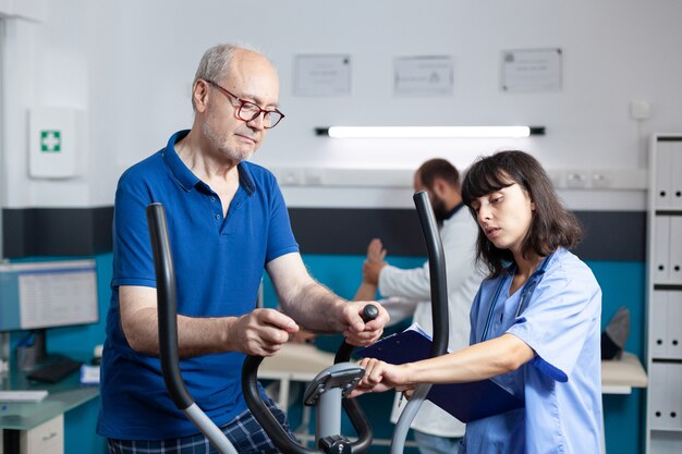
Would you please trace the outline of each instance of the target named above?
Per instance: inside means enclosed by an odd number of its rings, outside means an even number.
[[[333,138],[519,138],[545,135],[545,126],[330,126],[315,133]]]

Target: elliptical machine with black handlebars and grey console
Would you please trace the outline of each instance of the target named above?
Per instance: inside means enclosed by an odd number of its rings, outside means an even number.
[[[424,233],[431,291],[431,315],[434,320],[434,343],[429,356],[439,356],[448,347],[448,291],[446,262],[440,235],[433,208],[425,192],[413,196]],[[206,435],[221,454],[236,454],[236,450],[222,431],[196,405],[187,392],[180,371],[178,353],[178,302],[166,214],[161,204],[147,207],[147,222],[154,253],[157,279],[159,351],[161,371],[168,392],[187,418]],[[376,307],[367,305],[362,314],[365,321],[378,315]],[[360,405],[346,395],[355,388],[364,370],[350,363],[353,346],[343,343],[339,348],[334,365],[322,370],[306,388],[306,405],[317,406],[316,447],[309,449],[292,440],[278,420],[268,410],[260,397],[257,385],[258,366],[261,356],[248,356],[242,368],[242,391],[248,408],[268,433],[275,445],[283,454],[364,454],[372,444],[372,428]],[[401,454],[412,420],[426,398],[430,384],[416,386],[395,426],[391,443],[391,454]],[[342,435],[341,405],[345,409],[355,431],[355,441]]]

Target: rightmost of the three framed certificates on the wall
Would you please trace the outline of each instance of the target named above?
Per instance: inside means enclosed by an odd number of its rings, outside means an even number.
[[[502,90],[558,91],[562,81],[561,49],[502,52]]]

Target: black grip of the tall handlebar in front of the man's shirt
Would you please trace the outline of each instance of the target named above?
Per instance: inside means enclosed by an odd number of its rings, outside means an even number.
[[[161,204],[147,206],[147,225],[156,273],[159,320],[159,357],[166,388],[175,406],[184,410],[194,404],[180,372],[178,353],[178,295],[175,271],[168,236],[166,212]]]

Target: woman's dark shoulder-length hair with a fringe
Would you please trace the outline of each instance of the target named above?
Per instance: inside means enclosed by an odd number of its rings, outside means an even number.
[[[531,229],[523,240],[522,253],[534,251],[547,256],[558,247],[575,247],[583,236],[583,229],[575,216],[565,209],[540,163],[531,155],[519,151],[499,151],[478,158],[466,171],[462,182],[462,200],[476,219],[472,201],[503,187],[519,184],[535,203]],[[488,267],[492,277],[499,275],[513,260],[508,249],[498,249],[483,229],[476,241],[477,259]]]

